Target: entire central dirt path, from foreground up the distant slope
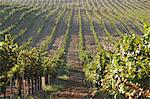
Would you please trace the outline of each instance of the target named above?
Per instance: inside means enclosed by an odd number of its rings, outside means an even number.
[[[63,88],[51,95],[52,99],[81,99],[90,98],[90,88],[84,80],[82,72],[82,63],[79,59],[79,34],[78,34],[78,18],[74,11],[72,28],[70,31],[70,42],[67,47],[66,63],[67,63],[67,79],[65,81],[58,80],[54,83],[62,85]]]

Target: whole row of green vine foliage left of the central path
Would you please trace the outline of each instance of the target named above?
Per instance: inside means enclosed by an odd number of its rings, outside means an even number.
[[[64,65],[64,48],[60,48],[52,57],[42,48],[19,46],[10,35],[0,42],[0,87],[5,92],[10,79],[38,79],[45,74],[57,72]]]

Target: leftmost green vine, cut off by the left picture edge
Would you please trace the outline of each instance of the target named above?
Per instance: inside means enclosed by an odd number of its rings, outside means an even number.
[[[8,81],[8,71],[17,62],[17,44],[14,44],[10,35],[5,35],[4,41],[0,42],[0,87],[4,91]]]

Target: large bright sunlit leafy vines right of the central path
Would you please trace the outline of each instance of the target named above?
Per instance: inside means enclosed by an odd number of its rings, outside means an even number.
[[[102,51],[84,66],[88,80],[101,91],[120,95],[133,92],[126,82],[148,87],[150,77],[150,27],[144,25],[144,35],[125,35],[115,52]]]

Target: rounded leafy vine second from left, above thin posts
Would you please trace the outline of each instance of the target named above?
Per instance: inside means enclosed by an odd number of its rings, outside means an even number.
[[[44,59],[46,53],[37,48],[22,50],[17,58],[17,66],[20,67],[19,75],[24,74],[25,78],[34,79],[43,74]]]

